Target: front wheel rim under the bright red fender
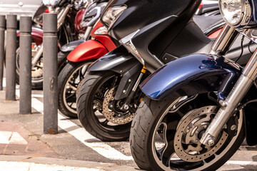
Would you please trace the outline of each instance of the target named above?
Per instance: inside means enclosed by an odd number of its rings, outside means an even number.
[[[64,105],[66,109],[69,110],[69,112],[74,113],[74,115],[76,115],[76,92],[79,83],[84,79],[87,68],[89,68],[91,63],[92,62],[84,63],[84,65],[76,68],[76,70],[71,73],[64,86]]]

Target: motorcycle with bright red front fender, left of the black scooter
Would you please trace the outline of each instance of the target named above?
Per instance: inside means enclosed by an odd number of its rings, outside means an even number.
[[[106,6],[107,2],[104,3]],[[102,4],[100,4],[103,6]],[[96,8],[99,6],[96,6]],[[101,10],[96,14],[99,19]],[[96,22],[95,21],[95,22]],[[94,22],[92,23],[94,24]],[[61,70],[58,77],[59,86],[59,110],[69,118],[77,118],[76,91],[84,78],[87,68],[96,59],[114,50],[119,42],[113,41],[107,34],[106,27],[98,21],[91,31],[91,40],[81,43],[69,53],[66,66]],[[91,26],[92,27],[92,26]],[[88,26],[90,28],[90,26]]]

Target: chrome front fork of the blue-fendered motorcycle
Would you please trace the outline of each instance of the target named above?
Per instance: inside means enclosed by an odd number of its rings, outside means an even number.
[[[228,51],[234,41],[233,39],[236,39],[236,34],[238,35],[236,32],[237,31],[233,28],[230,28],[227,25],[224,26],[216,42],[213,44],[211,53],[226,54],[226,51]],[[233,86],[233,89],[228,94],[226,100],[222,100],[220,102],[221,108],[218,110],[218,113],[216,113],[215,117],[211,121],[211,124],[208,125],[206,132],[203,134],[200,140],[203,145],[214,145],[218,134],[221,133],[223,126],[228,122],[228,119],[231,117],[231,115],[233,115],[238,104],[241,102],[241,100],[243,100],[244,96],[253,85],[256,76],[257,50],[253,53],[253,56],[246,65],[246,68],[244,68],[243,73],[238,78],[235,86]]]

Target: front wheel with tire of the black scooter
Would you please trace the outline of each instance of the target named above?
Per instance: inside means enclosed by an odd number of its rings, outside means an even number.
[[[112,73],[89,73],[81,83],[77,111],[86,130],[104,141],[119,141],[129,138],[131,121],[138,105],[138,95],[129,108],[122,110],[124,100],[115,100],[121,76]],[[136,100],[138,99],[138,100]]]

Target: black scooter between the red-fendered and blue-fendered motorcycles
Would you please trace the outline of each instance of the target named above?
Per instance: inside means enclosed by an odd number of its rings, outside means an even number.
[[[222,17],[194,16],[201,30],[191,19],[199,1],[190,6],[184,3],[138,4],[118,0],[106,6],[101,22],[123,46],[93,63],[79,88],[77,113],[91,135],[104,141],[129,138],[131,121],[144,97],[139,83],[165,63],[186,54],[208,53],[211,49],[214,40],[206,35],[211,36],[223,26]],[[182,16],[177,18],[178,14]],[[241,47],[236,46],[228,55],[236,58],[235,54],[240,52]]]

